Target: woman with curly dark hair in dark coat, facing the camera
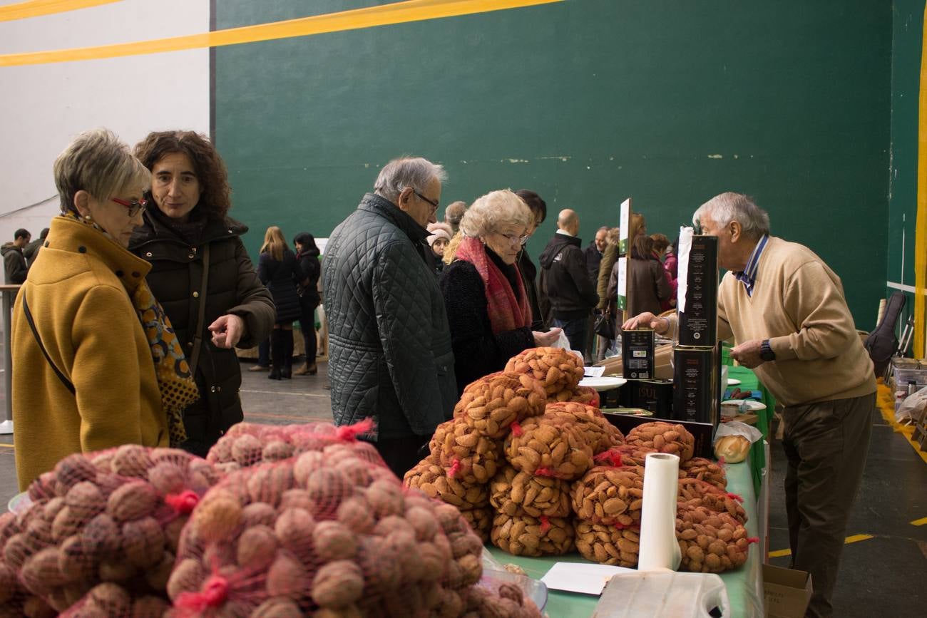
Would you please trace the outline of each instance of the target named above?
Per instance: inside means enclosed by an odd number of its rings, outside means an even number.
[[[157,208],[146,209],[129,250],[151,262],[148,286],[194,368],[200,398],[184,410],[183,446],[205,456],[243,419],[233,348],[254,347],[270,334],[273,300],[241,242],[248,227],[227,216],[228,174],[209,139],[152,132],[135,145],[135,157],[151,170],[146,197]]]

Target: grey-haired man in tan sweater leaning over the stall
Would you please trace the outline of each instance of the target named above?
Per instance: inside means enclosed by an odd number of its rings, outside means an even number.
[[[717,333],[734,339],[730,356],[785,408],[782,447],[789,461],[785,506],[793,567],[812,575],[806,616],[831,616],[846,520],[866,463],[875,375],[846,306],[844,288],[806,246],[769,236],[769,216],[746,195],[717,195],[695,211],[717,236]],[[675,329],[675,316],[651,313],[625,328]]]

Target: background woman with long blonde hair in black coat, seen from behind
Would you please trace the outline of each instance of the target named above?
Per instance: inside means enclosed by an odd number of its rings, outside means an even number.
[[[275,225],[264,233],[260,247],[258,278],[267,286],[277,308],[277,319],[271,333],[271,380],[290,378],[293,375],[293,321],[299,318],[300,306],[297,285],[304,284],[303,273],[296,255],[286,246],[284,233]]]

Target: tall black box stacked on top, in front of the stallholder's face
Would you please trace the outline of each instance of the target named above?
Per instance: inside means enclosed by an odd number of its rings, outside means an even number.
[[[679,346],[714,346],[717,340],[717,236],[692,236],[677,338]]]

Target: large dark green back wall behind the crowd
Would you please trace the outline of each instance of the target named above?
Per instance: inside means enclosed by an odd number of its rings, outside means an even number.
[[[219,29],[376,2],[222,0]],[[722,191],[844,279],[860,328],[885,289],[893,5],[569,0],[216,50],[215,139],[248,248],[326,236],[403,153],[442,202],[532,188],[586,242],[631,196],[675,235]]]

